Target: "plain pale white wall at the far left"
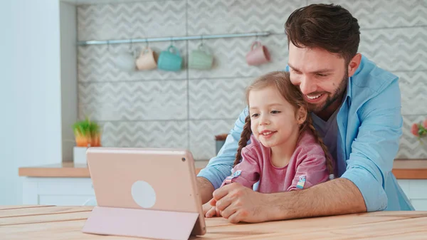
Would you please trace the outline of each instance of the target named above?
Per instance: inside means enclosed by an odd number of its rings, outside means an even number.
[[[0,204],[21,204],[18,167],[62,161],[59,1],[2,0],[0,24]]]

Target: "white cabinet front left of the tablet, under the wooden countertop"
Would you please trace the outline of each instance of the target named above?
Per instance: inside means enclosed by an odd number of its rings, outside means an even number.
[[[94,206],[96,201],[92,179],[88,177],[25,177],[23,204]]]

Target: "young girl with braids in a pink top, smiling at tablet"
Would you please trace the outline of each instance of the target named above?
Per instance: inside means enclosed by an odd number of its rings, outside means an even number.
[[[221,187],[238,182],[253,188],[259,181],[258,192],[286,192],[334,178],[327,147],[288,72],[276,71],[256,79],[246,90],[246,100],[249,115],[232,174]],[[251,144],[246,146],[248,140]],[[214,215],[215,207],[211,207],[206,217]]]

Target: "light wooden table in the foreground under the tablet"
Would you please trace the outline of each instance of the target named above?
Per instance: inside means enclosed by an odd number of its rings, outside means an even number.
[[[83,234],[92,207],[0,206],[0,239],[124,239]],[[229,224],[206,219],[207,234],[191,239],[427,239],[427,212],[373,212],[312,219]]]

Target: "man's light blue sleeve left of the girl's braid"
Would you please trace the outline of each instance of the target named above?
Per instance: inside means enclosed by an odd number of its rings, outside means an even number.
[[[217,189],[221,186],[223,180],[230,174],[231,168],[233,167],[234,159],[236,158],[238,141],[241,138],[243,126],[245,125],[245,118],[248,115],[248,108],[246,107],[242,113],[238,116],[238,119],[234,123],[233,129],[229,132],[226,142],[224,143],[221,150],[218,152],[216,157],[209,160],[208,165],[201,169],[198,177],[204,177],[214,185]]]

